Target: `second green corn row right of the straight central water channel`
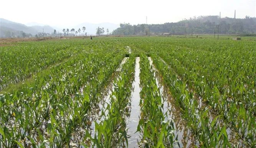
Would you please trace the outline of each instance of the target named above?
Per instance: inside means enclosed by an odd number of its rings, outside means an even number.
[[[216,124],[218,117],[215,117],[210,122],[208,117],[208,109],[200,109],[197,100],[193,97],[193,92],[189,91],[186,87],[186,82],[181,81],[177,76],[170,71],[169,67],[164,64],[157,56],[154,57],[154,63],[159,70],[160,74],[164,77],[167,86],[170,87],[170,93],[176,99],[177,105],[180,105],[183,118],[187,120],[188,127],[195,135],[197,142],[195,143],[200,147],[231,147],[226,127],[220,128]]]

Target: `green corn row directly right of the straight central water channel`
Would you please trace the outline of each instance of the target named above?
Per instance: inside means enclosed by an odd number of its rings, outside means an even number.
[[[163,100],[145,54],[140,54],[140,86],[141,118],[137,132],[142,134],[142,144],[144,147],[157,148],[178,145],[172,120],[165,121]]]

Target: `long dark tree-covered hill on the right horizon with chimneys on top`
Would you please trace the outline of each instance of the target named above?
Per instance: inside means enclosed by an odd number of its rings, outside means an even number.
[[[120,24],[113,35],[148,35],[150,34],[254,34],[256,33],[256,18],[220,18],[219,16],[199,16],[177,23],[164,24]]]

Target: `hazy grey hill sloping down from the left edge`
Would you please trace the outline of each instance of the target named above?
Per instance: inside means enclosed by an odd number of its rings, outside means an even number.
[[[40,32],[52,33],[51,26],[26,26],[3,18],[0,18],[0,38],[34,36]]]

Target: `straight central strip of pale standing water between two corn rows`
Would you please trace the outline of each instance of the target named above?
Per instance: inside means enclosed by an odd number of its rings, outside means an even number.
[[[139,115],[140,115],[140,58],[136,57],[136,64],[135,64],[135,79],[132,83],[132,86],[134,88],[132,94],[131,94],[131,111],[130,111],[130,117],[127,119],[128,124],[128,135],[130,135],[130,138],[128,139],[128,147],[129,148],[138,148],[138,141],[140,139],[139,132],[135,133],[137,131],[137,126],[139,123]]]

